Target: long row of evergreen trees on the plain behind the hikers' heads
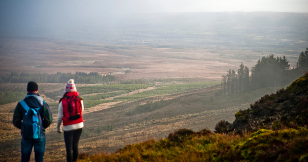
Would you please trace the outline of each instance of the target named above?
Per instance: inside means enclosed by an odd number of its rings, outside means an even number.
[[[36,83],[67,83],[69,79],[74,79],[75,83],[87,83],[87,84],[97,84],[97,83],[109,83],[116,78],[112,75],[102,76],[98,72],[90,72],[89,74],[85,72],[72,73],[62,73],[57,72],[55,74],[41,74],[41,73],[21,73],[12,72],[11,74],[1,74],[0,83],[28,83],[34,81]]]

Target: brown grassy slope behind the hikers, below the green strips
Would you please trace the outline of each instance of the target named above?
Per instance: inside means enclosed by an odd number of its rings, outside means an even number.
[[[109,109],[90,112],[84,115],[85,128],[80,140],[80,152],[99,152],[99,150],[115,151],[124,144],[140,141],[140,136],[164,137],[169,132],[180,128],[195,131],[200,128],[213,130],[221,119],[234,120],[239,109],[245,109],[264,94],[275,92],[277,88],[268,88],[235,95],[215,96],[219,86],[207,87],[178,94],[160,95],[124,103]],[[151,100],[164,99],[166,107],[141,114],[127,115],[137,105]],[[20,131],[10,124],[10,119],[3,118],[7,126],[2,128],[0,157],[11,161],[20,158]],[[53,127],[53,126],[51,126]],[[64,157],[63,135],[57,134],[53,128],[47,129],[45,161],[61,161]],[[141,139],[142,140],[142,139]],[[124,141],[124,143],[123,143]]]

